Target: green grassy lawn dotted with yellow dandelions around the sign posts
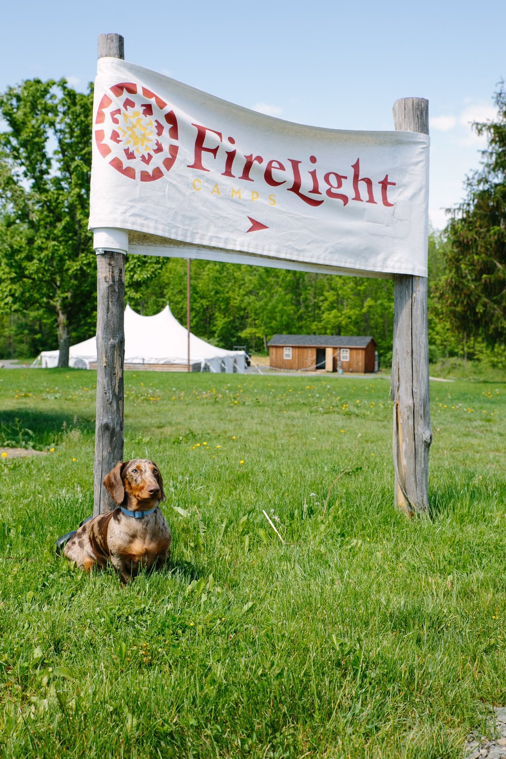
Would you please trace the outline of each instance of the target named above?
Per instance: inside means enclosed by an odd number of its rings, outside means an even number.
[[[0,446],[46,452],[0,458],[2,755],[461,757],[506,704],[504,384],[432,383],[408,521],[385,379],[127,373],[173,552],[121,588],[54,554],[93,510],[94,382],[0,375]]]

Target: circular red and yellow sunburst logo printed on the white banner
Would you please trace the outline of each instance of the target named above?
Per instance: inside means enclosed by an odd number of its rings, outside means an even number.
[[[122,82],[99,103],[95,141],[100,155],[130,179],[151,182],[178,156],[178,121],[171,106],[146,87]]]

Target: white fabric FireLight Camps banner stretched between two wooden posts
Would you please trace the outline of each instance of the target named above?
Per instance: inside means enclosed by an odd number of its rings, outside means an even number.
[[[292,124],[99,59],[96,249],[427,276],[429,137]]]

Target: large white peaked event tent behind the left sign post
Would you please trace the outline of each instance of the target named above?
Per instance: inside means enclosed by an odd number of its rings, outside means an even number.
[[[59,351],[43,351],[37,363],[57,367]],[[188,361],[187,330],[168,306],[154,317],[143,317],[127,305],[124,310],[124,364],[142,369],[143,364],[174,365],[184,370]],[[96,337],[71,345],[69,366],[75,369],[96,367]],[[244,351],[216,348],[190,333],[190,365],[193,371],[244,373]],[[148,368],[148,367],[146,367]],[[169,366],[167,366],[169,368]]]

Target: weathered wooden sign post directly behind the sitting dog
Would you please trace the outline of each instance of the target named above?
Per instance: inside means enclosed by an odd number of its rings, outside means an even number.
[[[119,34],[99,35],[99,58],[124,59]],[[124,442],[124,254],[96,257],[96,422],[93,516],[115,509],[102,480],[123,461]]]

